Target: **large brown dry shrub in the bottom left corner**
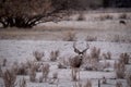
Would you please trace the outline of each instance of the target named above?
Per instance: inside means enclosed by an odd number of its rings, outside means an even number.
[[[16,74],[13,70],[5,70],[2,74],[2,78],[5,87],[15,87]]]

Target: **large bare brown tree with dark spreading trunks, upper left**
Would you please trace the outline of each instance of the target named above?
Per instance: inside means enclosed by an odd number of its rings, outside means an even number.
[[[57,12],[52,0],[3,0],[0,2],[0,23],[3,27],[27,28]]]

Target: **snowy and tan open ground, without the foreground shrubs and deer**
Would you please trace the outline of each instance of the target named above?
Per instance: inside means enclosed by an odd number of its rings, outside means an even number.
[[[118,14],[114,14],[117,16]],[[76,15],[75,15],[76,16]],[[71,79],[71,69],[58,69],[58,62],[61,59],[68,59],[76,55],[73,51],[73,41],[67,41],[69,33],[75,35],[74,40],[79,40],[81,49],[85,48],[86,42],[90,45],[87,54],[93,47],[100,48],[102,53],[111,52],[111,60],[106,60],[110,63],[110,67],[104,71],[85,71],[80,72],[80,82],[85,83],[91,79],[93,87],[98,87],[98,79],[104,76],[107,78],[107,84],[102,84],[102,87],[116,87],[116,82],[120,80],[123,87],[127,87],[126,79],[116,79],[114,71],[114,63],[119,59],[121,53],[127,52],[131,55],[131,22],[127,20],[127,25],[120,24],[119,20],[96,21],[94,18],[76,22],[62,21],[58,23],[44,23],[33,29],[16,29],[8,28],[7,30],[0,29],[0,62],[8,60],[7,67],[10,67],[13,62],[26,62],[27,60],[35,60],[33,51],[43,51],[45,57],[44,63],[49,63],[51,78],[52,73],[58,72],[59,82],[53,84],[48,83],[31,83],[28,76],[24,76],[27,80],[27,87],[73,87],[75,82]],[[88,15],[90,16],[90,15]],[[91,17],[91,16],[90,16]],[[94,17],[94,16],[93,16]],[[97,37],[95,41],[88,41],[87,36]],[[116,38],[117,36],[117,38]],[[52,50],[59,50],[60,55],[57,62],[49,59]],[[100,53],[100,58],[103,58]],[[100,61],[104,62],[103,60]],[[2,67],[3,70],[5,67]],[[131,64],[127,65],[127,70],[131,70]],[[37,73],[36,78],[39,78],[41,73]],[[17,80],[23,76],[17,76]],[[0,78],[2,87],[3,80]]]

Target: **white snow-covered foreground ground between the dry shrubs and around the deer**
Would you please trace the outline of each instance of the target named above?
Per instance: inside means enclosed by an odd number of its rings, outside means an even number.
[[[85,41],[79,41],[79,48],[85,48]],[[106,62],[110,63],[108,69],[104,71],[85,71],[83,67],[80,70],[80,82],[85,84],[87,79],[91,79],[93,83],[93,87],[97,87],[97,83],[99,78],[106,77],[107,84],[102,84],[103,87],[115,87],[117,80],[115,79],[116,74],[114,71],[114,63],[119,59],[120,53],[127,52],[131,54],[131,45],[130,44],[118,44],[118,42],[100,42],[100,41],[88,41],[90,49],[87,50],[87,54],[91,53],[91,49],[96,47],[100,49],[100,52],[111,52],[111,59],[106,60]],[[72,87],[75,82],[71,79],[71,69],[70,66],[67,69],[58,69],[58,62],[60,59],[68,60],[70,57],[76,55],[73,51],[72,41],[43,41],[43,40],[0,40],[0,60],[7,59],[7,66],[2,66],[2,70],[10,69],[13,62],[23,62],[25,63],[26,60],[35,60],[33,55],[34,50],[38,50],[44,52],[45,55],[41,58],[41,61],[36,61],[36,63],[48,63],[49,67],[49,75],[47,82],[38,83],[39,76],[43,75],[41,72],[36,72],[36,80],[31,83],[29,76],[24,76],[27,83],[27,87]],[[50,52],[52,50],[59,50],[59,57],[56,61],[50,61]],[[103,55],[100,53],[100,63],[105,63],[103,60]],[[2,62],[2,61],[1,61]],[[130,67],[130,64],[128,69]],[[58,73],[57,80],[53,82],[52,74]],[[23,76],[22,76],[23,77]],[[17,76],[17,82],[20,78]],[[0,83],[2,84],[2,79],[0,78]],[[122,79],[121,83],[123,86],[127,85],[126,79]]]

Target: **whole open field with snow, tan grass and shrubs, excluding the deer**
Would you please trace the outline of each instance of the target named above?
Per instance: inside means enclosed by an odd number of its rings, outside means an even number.
[[[32,29],[0,28],[0,70],[13,70],[10,76],[16,76],[16,87],[22,82],[26,82],[22,87],[131,87],[131,13],[122,20],[126,24],[120,23],[121,14],[84,14],[84,21],[76,21],[75,14],[70,21],[41,23]],[[81,51],[86,44],[90,48],[72,74],[71,60],[79,55],[74,41]],[[0,87],[4,87],[1,75]],[[92,86],[85,86],[88,83]]]

